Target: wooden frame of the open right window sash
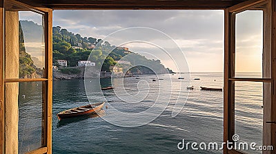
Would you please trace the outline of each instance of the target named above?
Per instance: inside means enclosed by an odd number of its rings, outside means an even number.
[[[261,5],[266,5],[264,12],[264,53],[263,53],[263,76],[264,78],[236,78],[235,77],[235,14],[245,10],[255,9]],[[224,142],[233,142],[235,135],[235,82],[261,82],[270,83],[270,86],[264,85],[264,132],[263,144],[272,145],[273,151],[263,151],[263,153],[275,153],[275,77],[276,59],[275,46],[275,0],[250,0],[239,3],[225,10],[224,14]],[[267,22],[266,22],[267,21]],[[268,77],[268,78],[267,78]],[[273,112],[274,110],[274,112]],[[270,136],[270,137],[269,137]],[[274,141],[273,141],[274,139]],[[244,153],[242,151],[228,150],[224,146],[224,154]]]

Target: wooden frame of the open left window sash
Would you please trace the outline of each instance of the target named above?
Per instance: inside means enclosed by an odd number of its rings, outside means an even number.
[[[45,36],[45,76],[43,78],[4,78],[4,45],[5,45],[5,8],[4,2],[19,5],[28,8],[33,12],[43,12],[44,36]],[[52,9],[50,8],[35,8],[25,3],[14,0],[4,0],[0,2],[0,153],[5,152],[5,124],[4,122],[4,94],[5,83],[21,83],[21,82],[39,82],[43,83],[43,125],[41,134],[43,137],[43,145],[29,153],[52,153]]]

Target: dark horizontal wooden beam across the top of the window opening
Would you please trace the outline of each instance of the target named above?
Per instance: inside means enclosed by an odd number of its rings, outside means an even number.
[[[57,0],[30,1],[19,0],[29,5],[55,10],[72,9],[224,9],[246,0]]]

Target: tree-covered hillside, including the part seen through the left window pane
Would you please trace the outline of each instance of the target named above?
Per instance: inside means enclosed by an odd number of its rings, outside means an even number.
[[[53,27],[53,63],[57,65],[57,59],[64,59],[68,61],[68,67],[77,66],[78,61],[89,60],[96,63],[98,70],[102,72],[110,72],[110,66],[116,65],[116,61],[124,58],[124,61],[129,61],[131,65],[140,65],[134,67],[128,72],[131,74],[153,74],[152,70],[142,67],[147,65],[153,69],[157,74],[164,74],[170,72],[166,69],[159,60],[150,60],[145,56],[131,52],[125,47],[116,47],[110,45],[107,41],[96,39],[93,37],[82,37],[80,34],[73,34],[68,30],[59,26]],[[26,52],[25,42],[41,43],[43,41],[43,27],[32,21],[19,22],[19,77],[20,78],[34,78],[42,76],[43,63],[35,55],[36,49],[28,48]],[[96,47],[95,47],[96,46]],[[111,51],[112,50],[112,51]],[[128,56],[127,56],[128,55]],[[122,60],[122,59],[121,59]],[[126,66],[120,66],[126,67]]]

